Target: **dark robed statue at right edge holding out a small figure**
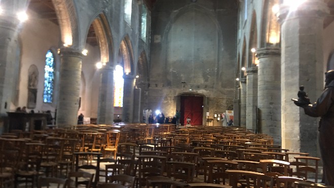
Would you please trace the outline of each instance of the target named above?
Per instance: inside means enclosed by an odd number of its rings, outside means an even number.
[[[334,70],[325,73],[325,89],[313,105],[303,107],[305,114],[321,117],[319,122],[319,146],[323,162],[323,183],[334,185]]]

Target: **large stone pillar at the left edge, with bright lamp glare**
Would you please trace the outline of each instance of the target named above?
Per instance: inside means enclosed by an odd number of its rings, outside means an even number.
[[[1,1],[0,1],[1,2]],[[19,58],[16,57],[18,48],[18,33],[23,23],[17,19],[17,12],[28,7],[28,0],[2,1],[2,14],[0,15],[0,135],[8,130],[6,117],[10,110],[13,92],[16,88]],[[13,78],[15,77],[15,78]]]

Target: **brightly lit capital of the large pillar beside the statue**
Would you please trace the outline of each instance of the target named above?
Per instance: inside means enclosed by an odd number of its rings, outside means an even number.
[[[284,21],[291,18],[297,18],[297,17],[324,18],[328,14],[329,14],[328,6],[322,0],[307,0],[302,5],[299,5],[299,7],[294,11],[291,11],[290,7],[286,5],[282,5],[280,7],[280,13],[278,18],[279,22],[283,24]]]

